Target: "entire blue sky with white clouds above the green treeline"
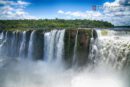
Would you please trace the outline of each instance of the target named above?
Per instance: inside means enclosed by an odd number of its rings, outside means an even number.
[[[96,10],[92,10],[96,6]],[[89,19],[130,25],[130,0],[0,0],[0,19]]]

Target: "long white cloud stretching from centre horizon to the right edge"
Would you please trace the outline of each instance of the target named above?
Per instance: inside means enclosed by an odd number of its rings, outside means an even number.
[[[130,0],[115,0],[114,2],[105,2],[100,11],[63,11],[59,10],[59,14],[67,18],[80,18],[90,20],[104,20],[114,25],[130,26]],[[69,16],[69,17],[68,17]]]

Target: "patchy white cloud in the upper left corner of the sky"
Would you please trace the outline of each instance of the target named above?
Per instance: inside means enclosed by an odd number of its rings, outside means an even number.
[[[0,0],[0,19],[35,19],[24,10],[29,4],[21,0]]]

